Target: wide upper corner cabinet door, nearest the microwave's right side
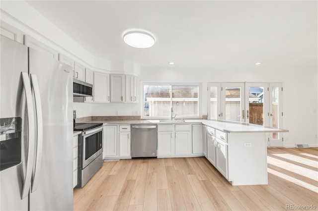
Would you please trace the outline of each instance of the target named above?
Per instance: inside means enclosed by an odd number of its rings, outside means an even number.
[[[93,99],[96,103],[109,103],[109,74],[94,71]]]

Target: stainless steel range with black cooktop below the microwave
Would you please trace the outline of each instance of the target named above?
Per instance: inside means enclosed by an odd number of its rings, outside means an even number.
[[[76,123],[74,131],[82,131],[79,139],[78,185],[82,188],[102,166],[103,124]]]

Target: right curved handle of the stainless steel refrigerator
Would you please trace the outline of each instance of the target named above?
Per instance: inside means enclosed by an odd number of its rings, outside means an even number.
[[[43,116],[42,116],[42,105],[38,79],[35,74],[31,74],[31,85],[34,92],[35,110],[36,110],[36,124],[37,124],[37,148],[35,157],[35,166],[32,174],[32,185],[31,192],[36,191],[39,184],[40,168],[42,162],[43,152]]]

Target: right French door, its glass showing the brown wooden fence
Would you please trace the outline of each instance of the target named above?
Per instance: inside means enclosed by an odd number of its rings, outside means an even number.
[[[245,83],[246,123],[269,126],[268,83]]]

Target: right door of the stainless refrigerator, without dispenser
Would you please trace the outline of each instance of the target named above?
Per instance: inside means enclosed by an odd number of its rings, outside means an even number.
[[[42,107],[40,166],[34,166],[37,188],[30,210],[73,210],[73,80],[72,67],[29,48],[29,72],[36,76]],[[41,140],[37,140],[39,143]],[[39,145],[38,145],[39,146]],[[35,164],[34,164],[35,165]]]

